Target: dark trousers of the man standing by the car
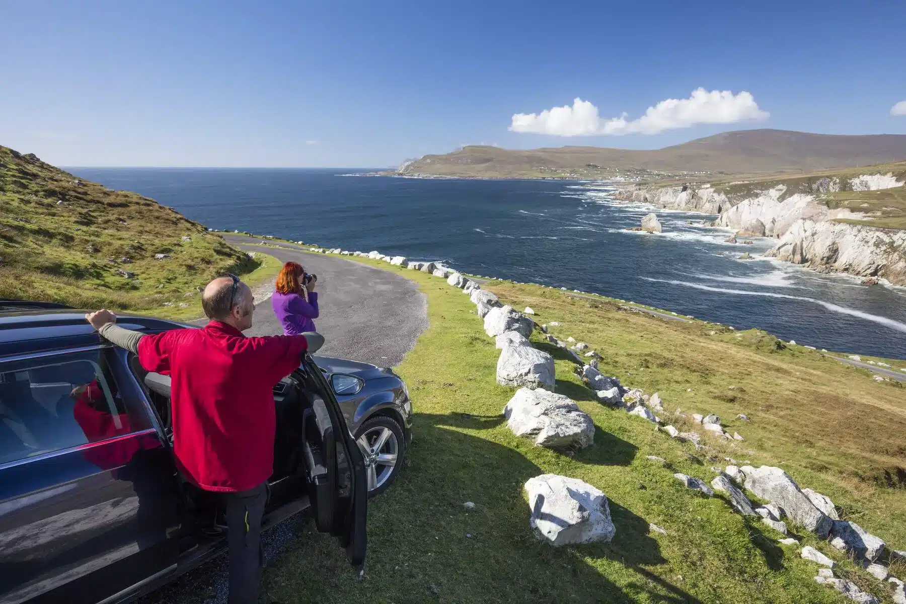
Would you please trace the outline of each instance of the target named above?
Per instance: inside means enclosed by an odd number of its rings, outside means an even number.
[[[264,550],[261,517],[265,513],[266,483],[240,493],[227,493],[226,540],[229,543],[229,604],[255,604],[261,585]]]

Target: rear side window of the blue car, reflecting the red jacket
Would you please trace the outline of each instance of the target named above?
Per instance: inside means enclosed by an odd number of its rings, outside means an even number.
[[[112,350],[0,362],[0,464],[151,427],[123,398]]]

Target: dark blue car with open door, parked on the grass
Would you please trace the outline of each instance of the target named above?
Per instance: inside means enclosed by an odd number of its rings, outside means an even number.
[[[274,398],[263,527],[308,513],[361,567],[368,496],[393,482],[411,439],[405,383],[306,352]],[[84,312],[0,300],[0,601],[127,602],[223,551],[223,511],[180,481],[172,439],[168,377],[102,340]]]

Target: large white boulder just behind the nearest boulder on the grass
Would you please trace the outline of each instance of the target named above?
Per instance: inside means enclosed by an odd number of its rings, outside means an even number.
[[[506,425],[536,446],[590,446],[594,423],[570,398],[543,388],[519,388],[504,407]]]

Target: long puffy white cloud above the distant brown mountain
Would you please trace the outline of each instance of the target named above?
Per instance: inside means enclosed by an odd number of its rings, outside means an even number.
[[[692,91],[689,99],[667,99],[649,107],[638,120],[619,118],[604,120],[598,108],[576,98],[573,106],[554,107],[541,113],[516,113],[509,129],[514,132],[553,134],[560,137],[657,134],[664,130],[689,128],[695,124],[732,124],[742,120],[764,120],[770,114],[758,109],[746,91]]]

